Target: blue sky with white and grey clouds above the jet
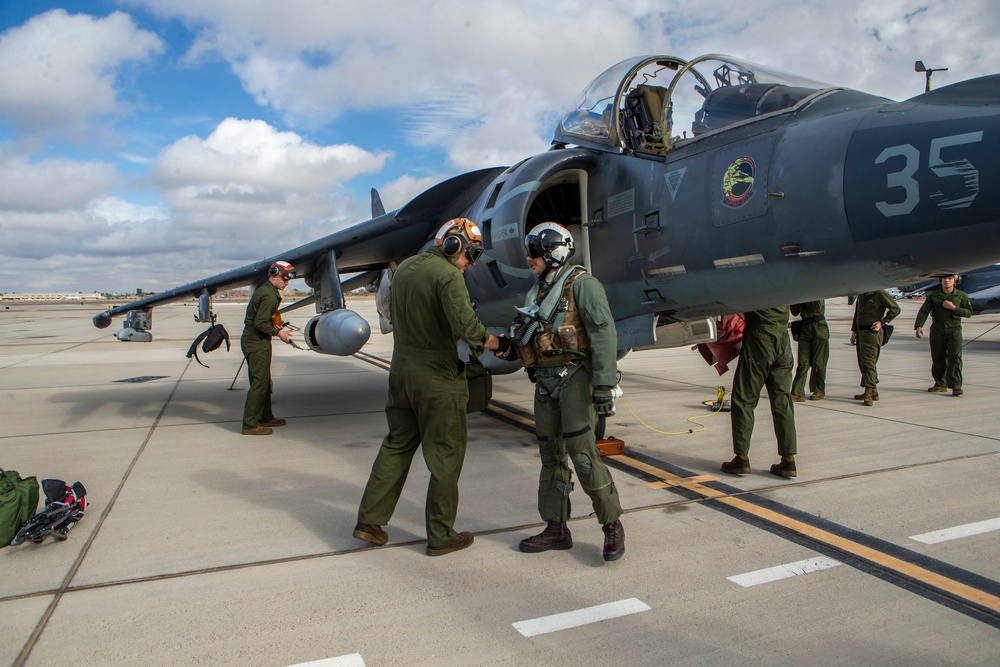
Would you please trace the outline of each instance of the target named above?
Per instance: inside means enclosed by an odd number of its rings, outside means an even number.
[[[0,292],[147,291],[549,145],[625,58],[892,99],[1000,70],[992,0],[0,2]],[[28,267],[25,270],[25,267]]]

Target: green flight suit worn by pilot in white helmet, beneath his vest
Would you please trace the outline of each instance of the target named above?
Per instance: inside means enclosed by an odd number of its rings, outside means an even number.
[[[547,281],[557,284],[569,271],[561,267]],[[618,384],[618,332],[601,283],[589,273],[579,275],[572,285],[573,300],[590,339],[589,359],[574,358],[562,365],[535,370],[535,433],[542,470],[538,479],[538,513],[545,521],[565,522],[570,518],[569,492],[572,473],[569,459],[590,497],[597,520],[614,523],[622,515],[618,489],[611,471],[597,451],[597,413],[594,386]],[[532,299],[525,305],[538,302]]]

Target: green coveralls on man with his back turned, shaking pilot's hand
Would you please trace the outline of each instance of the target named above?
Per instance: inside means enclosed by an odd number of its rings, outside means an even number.
[[[392,363],[382,441],[358,523],[389,522],[418,447],[430,471],[424,508],[428,546],[454,540],[469,399],[456,342],[478,356],[490,333],[472,310],[462,272],[438,247],[405,260],[392,278]]]

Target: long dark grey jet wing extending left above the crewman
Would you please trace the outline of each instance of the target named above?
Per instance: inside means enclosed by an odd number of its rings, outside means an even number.
[[[391,262],[398,262],[420,250],[423,244],[446,220],[455,217],[468,206],[486,183],[503,170],[494,167],[469,172],[439,183],[423,192],[403,208],[391,213],[382,213],[376,218],[361,222],[347,229],[335,232],[321,239],[311,241],[292,250],[282,252],[237,269],[196,280],[173,289],[138,299],[122,306],[116,306],[94,316],[94,326],[105,328],[118,315],[132,314],[126,321],[126,329],[140,332],[138,337],[119,332],[121,340],[151,340],[148,328],[151,325],[151,311],[155,306],[190,298],[202,300],[198,321],[210,322],[210,302],[208,297],[219,290],[233,289],[263,282],[267,269],[275,260],[284,260],[295,266],[296,273],[305,277],[306,283],[319,292],[319,285],[334,292],[330,310],[343,308],[342,291],[373,282],[379,271]],[[381,202],[374,206],[374,212],[381,213]],[[357,274],[342,283],[341,274]],[[336,282],[336,285],[330,285]],[[326,297],[329,294],[317,295]],[[309,300],[311,302],[312,299]],[[306,300],[299,302],[304,305]],[[317,310],[323,308],[317,306]]]

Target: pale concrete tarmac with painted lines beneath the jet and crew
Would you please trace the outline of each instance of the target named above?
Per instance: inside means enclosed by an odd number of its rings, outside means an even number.
[[[768,472],[766,395],[753,472],[727,475],[729,414],[705,402],[733,371],[687,348],[627,356],[614,563],[580,488],[572,550],[517,550],[542,526],[521,372],[469,417],[456,527],[475,544],[431,558],[420,457],[389,543],[351,536],[391,336],[350,358],[275,343],[288,425],[249,437],[245,369],[229,390],[242,304],[216,306],[234,349],[202,354],[211,368],[184,356],[194,304],[157,308],[148,344],[94,329],[93,305],[0,305],[0,467],[82,480],[90,501],[67,541],[0,549],[0,664],[996,665],[1000,316],[965,322],[952,397],[926,391],[920,304],[900,303],[865,407],[853,309],[827,302],[827,397],[796,404],[794,479]],[[377,328],[370,299],[350,306]]]

